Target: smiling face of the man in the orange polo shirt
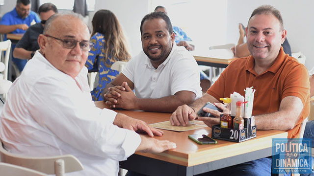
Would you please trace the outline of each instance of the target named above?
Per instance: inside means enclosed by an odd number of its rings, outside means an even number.
[[[247,27],[247,46],[254,59],[275,60],[286,39],[279,20],[271,14],[254,15]]]

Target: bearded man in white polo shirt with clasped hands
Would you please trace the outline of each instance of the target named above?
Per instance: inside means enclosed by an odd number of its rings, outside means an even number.
[[[173,112],[200,97],[197,63],[183,46],[176,45],[169,17],[163,12],[150,13],[143,18],[140,31],[143,51],[106,86],[106,104],[126,110]]]

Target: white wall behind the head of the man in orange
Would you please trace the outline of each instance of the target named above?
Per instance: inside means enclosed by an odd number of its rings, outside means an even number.
[[[263,4],[281,12],[292,52],[301,51],[306,56],[305,66],[311,69],[314,66],[313,0],[228,0],[227,43],[237,43],[238,23],[247,26],[253,10]]]

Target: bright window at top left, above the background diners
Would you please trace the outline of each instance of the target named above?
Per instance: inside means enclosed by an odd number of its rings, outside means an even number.
[[[58,9],[73,10],[74,0],[40,0],[40,4],[51,2]],[[95,10],[95,0],[86,0],[88,11]]]

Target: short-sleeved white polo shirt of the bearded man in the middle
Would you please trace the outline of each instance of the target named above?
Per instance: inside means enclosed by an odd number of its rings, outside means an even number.
[[[202,96],[200,71],[194,57],[183,47],[173,44],[167,59],[157,69],[142,50],[122,71],[134,83],[138,98],[161,98],[187,90]]]

